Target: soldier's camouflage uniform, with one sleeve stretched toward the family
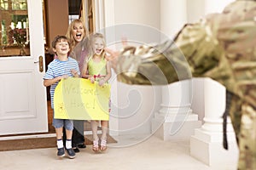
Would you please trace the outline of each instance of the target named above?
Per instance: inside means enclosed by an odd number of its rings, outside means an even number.
[[[116,65],[119,81],[167,84],[193,76],[220,82],[233,94],[229,111],[239,141],[238,168],[255,170],[256,2],[230,3],[222,14],[184,26],[174,42],[125,48]]]

